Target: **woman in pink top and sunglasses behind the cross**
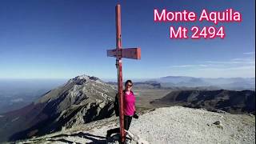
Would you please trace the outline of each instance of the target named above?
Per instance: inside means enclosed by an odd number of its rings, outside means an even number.
[[[132,118],[138,118],[138,115],[135,112],[135,96],[134,92],[131,90],[133,82],[127,80],[125,83],[126,89],[123,90],[124,96],[124,125],[125,130],[129,130],[130,122]],[[120,128],[115,128],[107,130],[106,138],[110,137],[111,134],[120,133]]]

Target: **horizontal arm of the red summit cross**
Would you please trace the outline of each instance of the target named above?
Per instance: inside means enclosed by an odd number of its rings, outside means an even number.
[[[141,48],[107,50],[108,57],[141,59]]]

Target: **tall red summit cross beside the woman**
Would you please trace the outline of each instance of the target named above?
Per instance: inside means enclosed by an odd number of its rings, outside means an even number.
[[[123,110],[123,94],[122,94],[122,58],[141,59],[141,49],[140,48],[122,49],[121,6],[119,4],[115,7],[115,13],[116,13],[116,48],[113,50],[107,50],[107,56],[116,57],[116,66],[118,70],[120,135],[121,135],[121,142],[124,142],[125,131],[124,131],[124,110]]]

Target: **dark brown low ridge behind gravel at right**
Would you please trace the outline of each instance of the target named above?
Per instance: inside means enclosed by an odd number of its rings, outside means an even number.
[[[255,91],[252,90],[174,90],[151,102],[158,106],[187,106],[233,114],[255,114]]]

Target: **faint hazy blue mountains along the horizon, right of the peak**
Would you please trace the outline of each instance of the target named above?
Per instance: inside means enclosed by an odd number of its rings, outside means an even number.
[[[162,78],[134,78],[136,88],[170,88],[206,90],[255,90],[255,78],[194,78],[187,76],[166,76]],[[107,83],[117,85],[116,80]]]

